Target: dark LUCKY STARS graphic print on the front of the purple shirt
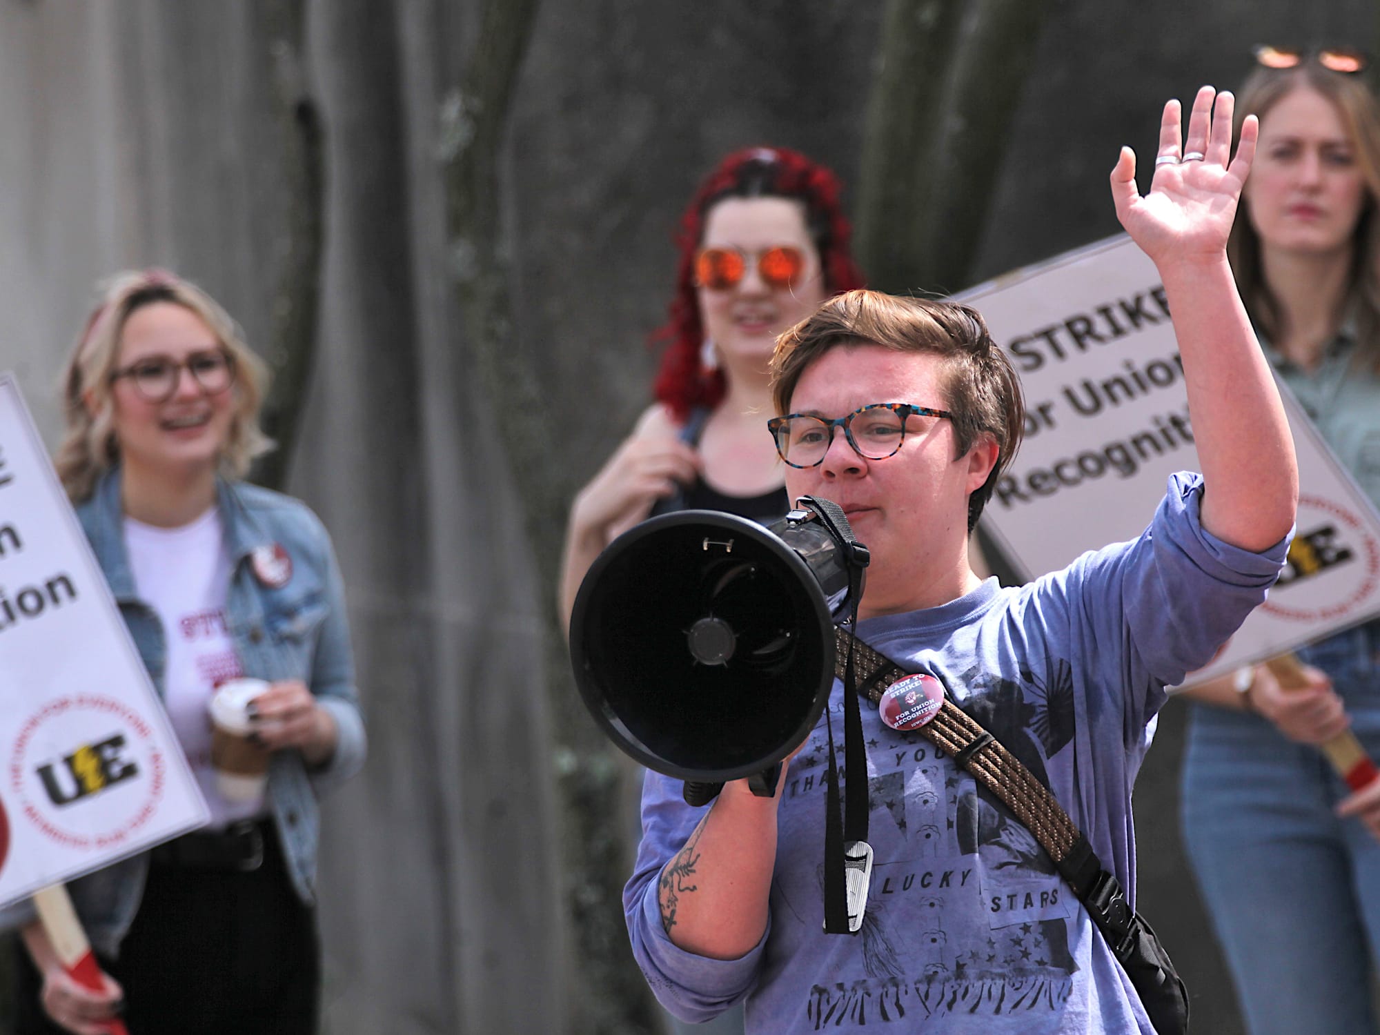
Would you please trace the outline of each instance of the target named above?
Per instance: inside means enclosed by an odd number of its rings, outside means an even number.
[[[1045,780],[1046,759],[1072,740],[1068,662],[1021,671],[1020,682],[976,669],[962,682],[963,709]],[[1076,901],[1049,856],[1006,805],[930,741],[880,722],[868,726],[868,737],[876,864],[861,944],[845,956],[857,966],[810,989],[810,1027],[1060,1009],[1078,970],[1068,949]],[[827,792],[827,751],[811,741],[792,760],[788,799]],[[822,864],[814,876],[807,894],[822,900]],[[802,912],[799,901],[787,905]]]

